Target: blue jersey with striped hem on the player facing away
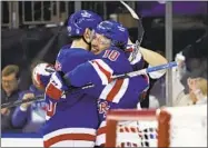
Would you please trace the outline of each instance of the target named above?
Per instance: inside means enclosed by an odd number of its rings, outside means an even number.
[[[68,46],[60,50],[55,67],[66,73],[91,59],[95,56],[90,51]],[[85,93],[73,93],[57,102],[46,95],[47,122],[42,128],[44,147],[62,140],[79,140],[93,147],[99,121],[97,100],[91,98]]]

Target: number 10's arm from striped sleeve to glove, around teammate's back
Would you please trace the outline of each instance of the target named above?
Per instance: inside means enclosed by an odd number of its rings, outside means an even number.
[[[50,98],[59,100],[70,88],[83,87],[89,83],[108,85],[112,80],[112,73],[113,70],[102,59],[95,59],[79,65],[66,75],[63,72],[52,73],[46,93]]]

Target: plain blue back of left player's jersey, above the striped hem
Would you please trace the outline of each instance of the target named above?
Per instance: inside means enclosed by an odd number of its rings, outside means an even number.
[[[95,56],[85,49],[63,48],[57,57],[56,70],[66,73],[91,59],[95,59]],[[66,98],[58,102],[48,97],[46,99],[49,105],[47,111],[49,121],[43,128],[44,135],[69,127],[88,127],[93,129],[98,127],[97,100],[91,99],[91,96],[75,92],[66,95]]]

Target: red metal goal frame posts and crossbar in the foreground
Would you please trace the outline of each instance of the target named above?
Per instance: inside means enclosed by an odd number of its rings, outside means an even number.
[[[165,110],[155,109],[117,109],[109,110],[107,115],[106,147],[116,147],[116,128],[120,120],[157,120],[158,121],[158,147],[169,147],[169,121],[170,115]]]

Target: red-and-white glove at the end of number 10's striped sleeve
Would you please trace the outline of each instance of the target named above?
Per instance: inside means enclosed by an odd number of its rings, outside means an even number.
[[[62,75],[60,72],[53,72],[46,88],[46,93],[55,100],[60,100],[67,89],[68,87],[62,80]]]

